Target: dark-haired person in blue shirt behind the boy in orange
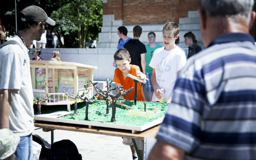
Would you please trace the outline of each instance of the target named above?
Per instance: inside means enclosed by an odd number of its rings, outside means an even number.
[[[118,46],[117,49],[122,49],[124,48],[124,45],[128,40],[131,40],[130,37],[127,36],[128,30],[125,26],[118,27]],[[113,62],[114,67],[118,67],[115,61]]]

